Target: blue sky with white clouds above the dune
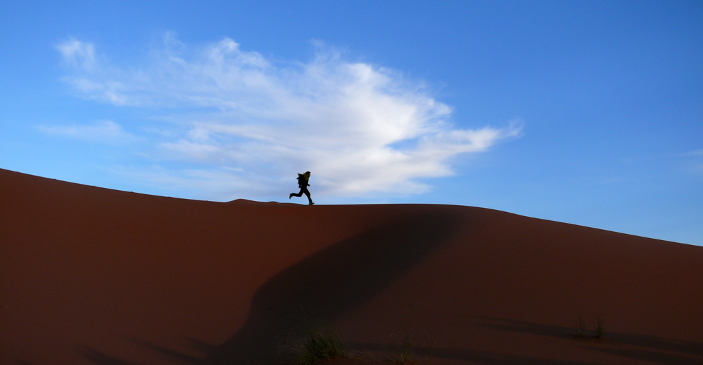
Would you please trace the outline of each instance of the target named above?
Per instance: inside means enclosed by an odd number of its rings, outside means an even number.
[[[340,3],[5,1],[0,168],[703,245],[702,2]]]

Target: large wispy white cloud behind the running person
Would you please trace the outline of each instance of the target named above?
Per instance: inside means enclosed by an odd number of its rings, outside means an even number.
[[[258,196],[284,194],[290,175],[308,170],[316,194],[421,193],[430,186],[415,180],[451,175],[451,157],[521,133],[517,122],[456,129],[452,108],[421,82],[315,46],[309,62],[283,63],[232,39],[189,46],[169,33],[129,67],[104,61],[93,44],[76,39],[57,49],[67,65],[62,80],[80,97],[168,113],[160,128],[169,138],[152,142],[162,157],[190,168],[160,171],[153,180],[200,184],[210,193],[241,196],[236,187],[248,181],[259,186]]]

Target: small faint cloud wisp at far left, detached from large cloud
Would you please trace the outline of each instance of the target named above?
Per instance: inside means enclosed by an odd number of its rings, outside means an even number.
[[[98,121],[89,125],[67,125],[67,126],[37,126],[39,131],[48,135],[75,138],[88,142],[120,143],[131,142],[138,138],[127,131],[120,124],[114,121]]]

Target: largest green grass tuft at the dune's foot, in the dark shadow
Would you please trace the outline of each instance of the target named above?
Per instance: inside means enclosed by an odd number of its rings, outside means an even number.
[[[329,326],[311,328],[293,346],[299,365],[319,364],[335,357],[347,357],[339,334]]]

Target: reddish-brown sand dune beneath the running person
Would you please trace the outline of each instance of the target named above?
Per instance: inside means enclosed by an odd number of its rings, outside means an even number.
[[[703,364],[703,247],[470,206],[157,197],[0,170],[1,364]],[[579,317],[587,338],[576,338]],[[593,338],[595,321],[604,337]]]

